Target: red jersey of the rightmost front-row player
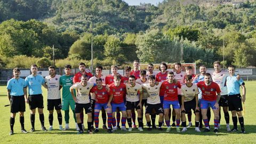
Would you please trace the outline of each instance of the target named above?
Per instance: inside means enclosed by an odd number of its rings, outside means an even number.
[[[207,101],[217,100],[216,93],[220,93],[220,87],[217,83],[212,82],[210,85],[206,85],[204,81],[198,82],[197,87],[202,91],[202,99]]]

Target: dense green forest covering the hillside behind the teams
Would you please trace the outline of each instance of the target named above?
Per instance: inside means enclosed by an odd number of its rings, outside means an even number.
[[[256,66],[256,2],[165,0],[1,0],[0,68],[79,61],[113,63],[213,61]]]

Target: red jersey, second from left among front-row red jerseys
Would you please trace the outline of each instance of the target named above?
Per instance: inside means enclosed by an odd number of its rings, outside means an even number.
[[[124,83],[120,83],[119,86],[115,86],[115,84],[109,85],[110,92],[113,93],[113,103],[122,103],[124,102],[124,98],[126,95],[126,87]]]

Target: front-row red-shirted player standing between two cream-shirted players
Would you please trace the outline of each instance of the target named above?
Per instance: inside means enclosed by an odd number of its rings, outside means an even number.
[[[172,108],[175,110],[175,113],[177,115],[176,131],[180,132],[180,104],[178,100],[178,88],[181,88],[180,82],[177,81],[177,83],[174,83],[174,73],[172,71],[169,71],[167,75],[167,81],[164,81],[161,86],[161,89],[164,91],[163,108],[165,123],[167,125],[166,132],[170,132],[171,130],[169,117],[170,105],[172,105]]]

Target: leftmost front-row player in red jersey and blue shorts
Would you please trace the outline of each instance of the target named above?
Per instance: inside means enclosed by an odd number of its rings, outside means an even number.
[[[94,108],[94,123],[95,123],[95,130],[94,132],[99,132],[99,113],[102,107],[107,111],[108,115],[108,132],[112,133],[112,110],[111,110],[111,100],[113,94],[108,92],[105,85],[102,85],[102,79],[96,79],[96,85],[91,90],[91,93],[95,94],[95,108]]]

